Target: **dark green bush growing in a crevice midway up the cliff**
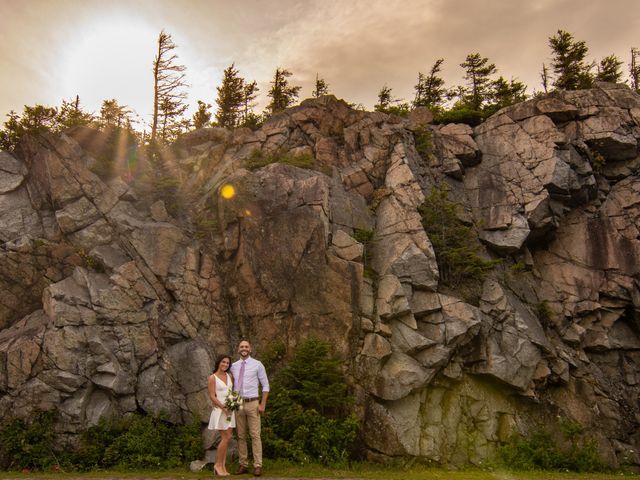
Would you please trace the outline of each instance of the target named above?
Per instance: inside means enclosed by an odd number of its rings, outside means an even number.
[[[499,263],[480,257],[477,236],[458,219],[458,208],[448,199],[447,185],[441,184],[432,188],[418,209],[436,254],[442,283],[450,287],[479,283]]]

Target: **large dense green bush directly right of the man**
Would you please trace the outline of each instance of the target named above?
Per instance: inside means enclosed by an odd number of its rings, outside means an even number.
[[[269,458],[341,464],[354,452],[358,420],[329,344],[307,339],[272,381],[263,448]]]

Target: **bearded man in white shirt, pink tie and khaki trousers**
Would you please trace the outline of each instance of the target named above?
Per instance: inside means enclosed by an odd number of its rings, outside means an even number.
[[[262,440],[260,439],[260,415],[264,413],[269,396],[269,379],[264,365],[251,357],[251,344],[242,340],[238,345],[240,360],[231,365],[234,391],[240,393],[244,400],[243,408],[236,412],[236,432],[238,432],[238,456],[240,467],[236,472],[242,475],[248,472],[249,455],[247,452],[247,427],[251,435],[253,451],[253,474],[262,475]],[[258,391],[262,387],[262,399]]]

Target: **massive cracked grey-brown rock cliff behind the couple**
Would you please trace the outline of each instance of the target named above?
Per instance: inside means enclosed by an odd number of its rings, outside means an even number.
[[[640,98],[603,84],[475,129],[429,121],[327,96],[191,132],[169,152],[180,218],[94,175],[70,136],[0,153],[0,415],[57,408],[71,436],[140,409],[206,421],[217,355],[313,335],[376,458],[481,462],[556,415],[613,465],[637,451]],[[311,168],[278,162],[296,157]],[[418,212],[443,182],[502,259],[473,304],[443,287]]]

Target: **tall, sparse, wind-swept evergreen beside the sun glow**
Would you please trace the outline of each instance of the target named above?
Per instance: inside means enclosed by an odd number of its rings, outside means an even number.
[[[164,30],[158,36],[158,51],[153,60],[153,120],[151,142],[169,142],[179,135],[187,122],[182,115],[187,110],[184,65],[176,63],[176,44]]]

